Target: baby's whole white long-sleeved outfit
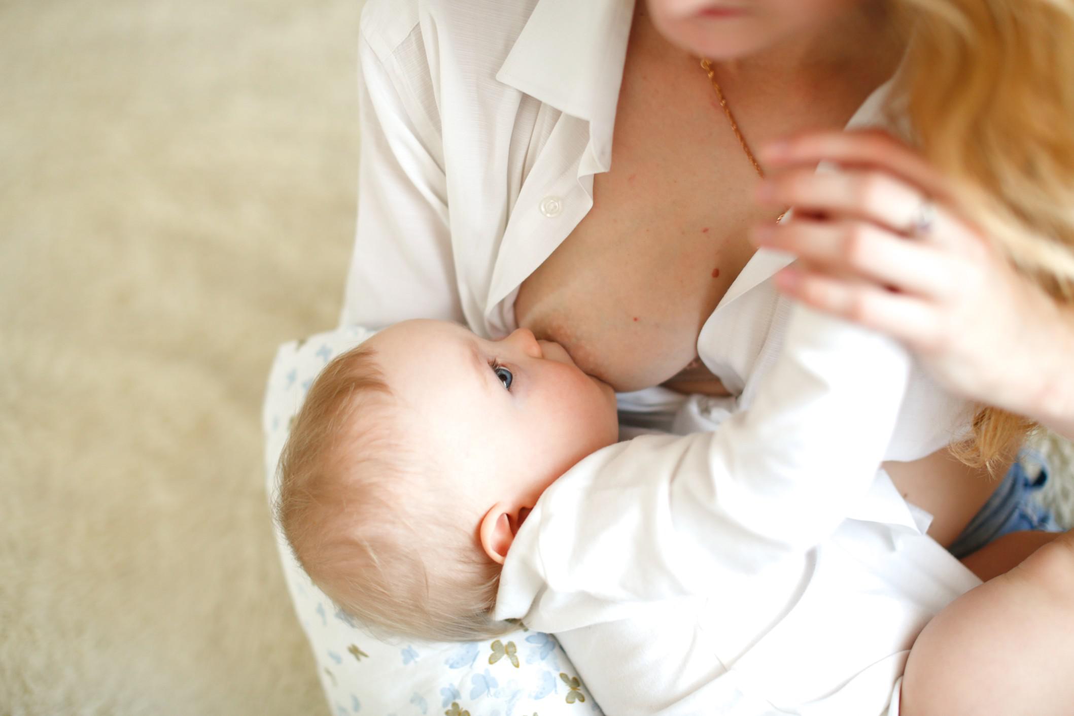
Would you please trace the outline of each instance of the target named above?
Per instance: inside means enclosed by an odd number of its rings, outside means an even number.
[[[786,340],[713,432],[590,455],[519,529],[495,615],[555,633],[605,713],[897,714],[917,633],[979,584],[877,470],[902,349],[797,306]]]

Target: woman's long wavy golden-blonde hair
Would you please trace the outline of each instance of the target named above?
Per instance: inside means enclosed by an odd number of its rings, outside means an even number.
[[[1074,0],[896,5],[911,39],[892,101],[921,151],[1024,275],[1074,302]],[[991,467],[1032,427],[983,406],[957,453]]]

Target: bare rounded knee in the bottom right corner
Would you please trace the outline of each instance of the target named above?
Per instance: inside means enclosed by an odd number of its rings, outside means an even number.
[[[945,608],[914,643],[901,716],[1069,716],[1074,532]]]

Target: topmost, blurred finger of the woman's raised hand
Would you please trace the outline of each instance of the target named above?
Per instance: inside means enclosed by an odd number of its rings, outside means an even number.
[[[877,169],[948,201],[950,190],[943,175],[913,148],[884,130],[811,132],[768,144],[760,159],[772,169],[829,161],[844,166]]]

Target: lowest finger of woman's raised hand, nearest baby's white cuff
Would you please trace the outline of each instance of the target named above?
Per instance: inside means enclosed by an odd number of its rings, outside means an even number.
[[[836,278],[808,264],[784,268],[775,275],[775,283],[809,306],[886,333],[912,348],[928,349],[941,338],[939,312],[923,298]]]

